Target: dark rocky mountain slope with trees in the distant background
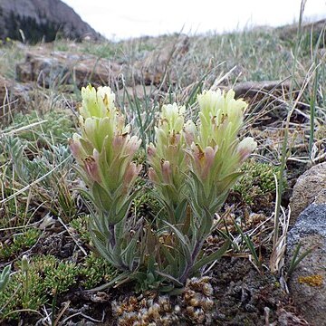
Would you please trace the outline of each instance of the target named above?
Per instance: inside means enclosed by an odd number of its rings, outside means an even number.
[[[58,33],[76,40],[101,37],[61,0],[0,1],[0,39],[51,42]]]

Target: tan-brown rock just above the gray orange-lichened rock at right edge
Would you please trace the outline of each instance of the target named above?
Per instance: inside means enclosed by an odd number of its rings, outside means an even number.
[[[326,188],[326,162],[317,164],[316,166],[305,171],[298,178],[293,187],[292,198],[290,201],[291,218],[290,223],[294,224],[296,218],[304,208],[311,205],[316,197],[318,203],[321,204],[322,198],[319,193]],[[323,203],[326,203],[324,201]]]

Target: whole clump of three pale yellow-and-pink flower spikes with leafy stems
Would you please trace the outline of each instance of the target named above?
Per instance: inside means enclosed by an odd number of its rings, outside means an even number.
[[[120,279],[137,280],[144,288],[182,286],[210,262],[225,254],[226,241],[206,255],[202,248],[214,216],[252,153],[254,139],[238,139],[247,104],[235,92],[205,91],[197,98],[198,120],[185,122],[186,108],[163,105],[155,141],[148,146],[149,178],[163,209],[158,218],[129,216],[141,167],[132,162],[140,140],[114,105],[109,87],[82,89],[82,135],[70,139],[96,212],[91,216],[94,245]]]

